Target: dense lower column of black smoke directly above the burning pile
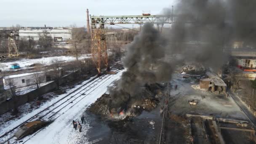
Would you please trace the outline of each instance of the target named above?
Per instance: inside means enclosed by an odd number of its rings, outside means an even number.
[[[120,107],[126,101],[138,98],[145,84],[171,80],[172,65],[165,61],[167,40],[153,24],[145,24],[134,37],[122,59],[126,72],[111,91],[112,107]]]

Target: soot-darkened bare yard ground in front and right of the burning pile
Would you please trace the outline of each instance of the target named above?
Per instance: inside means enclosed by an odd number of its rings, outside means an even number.
[[[198,84],[195,79],[182,79],[173,75],[171,85],[178,85],[171,90],[168,107],[165,107],[163,135],[161,144],[191,144],[189,120],[186,114],[209,115],[235,120],[247,120],[245,114],[230,97],[215,95],[192,88]],[[196,105],[189,105],[189,100],[196,100]],[[93,144],[159,144],[162,126],[160,107],[164,105],[164,97],[155,109],[142,112],[138,117],[123,121],[101,119],[86,112],[87,130],[85,139]],[[154,126],[149,122],[155,122]],[[219,138],[208,120],[192,119],[192,136],[194,144],[219,144]],[[203,126],[204,124],[204,126]],[[205,130],[203,129],[205,127]],[[207,135],[207,136],[206,136]],[[226,144],[253,144],[250,133],[241,131],[221,130]],[[79,142],[78,142],[79,143]],[[80,141],[80,143],[83,143]]]

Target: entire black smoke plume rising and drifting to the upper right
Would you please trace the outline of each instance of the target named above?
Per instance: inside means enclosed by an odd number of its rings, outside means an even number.
[[[180,54],[184,62],[194,62],[218,71],[227,63],[233,41],[247,47],[256,45],[256,1],[254,0],[180,0],[171,29],[158,32],[152,24],[129,45],[123,58],[126,72],[111,90],[109,106],[120,107],[139,98],[145,84],[167,82],[176,64],[167,59]],[[171,9],[164,9],[171,15]]]

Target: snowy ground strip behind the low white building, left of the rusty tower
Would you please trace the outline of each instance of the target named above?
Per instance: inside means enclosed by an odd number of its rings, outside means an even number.
[[[80,60],[90,58],[90,55],[83,54],[82,56],[79,57]],[[40,59],[19,59],[17,61],[11,61],[11,62],[3,62],[0,63],[0,70],[2,71],[9,71],[11,70],[11,64],[17,63],[21,67],[20,69],[27,69],[27,66],[30,66],[31,64],[44,64],[44,65],[50,65],[52,64],[52,61],[54,59],[58,59],[63,62],[68,62],[68,61],[75,61],[74,56],[53,56],[53,57],[42,57]],[[16,69],[16,70],[20,70]]]

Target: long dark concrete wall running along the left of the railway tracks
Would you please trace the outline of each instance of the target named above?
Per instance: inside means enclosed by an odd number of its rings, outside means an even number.
[[[67,81],[72,81],[74,80],[78,75],[78,72],[72,73],[70,75],[64,76],[59,80],[59,84],[62,85],[66,83]],[[49,83],[47,85],[44,85],[38,89],[35,89],[34,91],[31,91],[29,93],[26,93],[21,96],[17,96],[17,102],[18,106],[25,104],[29,101],[33,101],[36,99],[38,96],[43,95],[44,93],[47,93],[49,91],[52,91],[53,89],[57,88],[56,82]],[[13,101],[6,101],[2,104],[0,104],[0,115],[8,112],[13,109]]]

